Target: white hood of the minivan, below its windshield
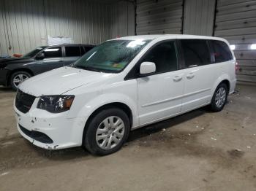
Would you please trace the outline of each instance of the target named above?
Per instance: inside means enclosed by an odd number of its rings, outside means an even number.
[[[69,66],[54,69],[27,79],[19,89],[34,96],[60,95],[82,85],[107,79],[113,74],[87,71]]]

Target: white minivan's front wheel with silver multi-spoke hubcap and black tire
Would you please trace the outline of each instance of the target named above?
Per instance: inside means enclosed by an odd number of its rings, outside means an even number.
[[[83,147],[93,155],[109,155],[121,149],[127,141],[129,130],[129,118],[123,110],[103,109],[89,121]]]

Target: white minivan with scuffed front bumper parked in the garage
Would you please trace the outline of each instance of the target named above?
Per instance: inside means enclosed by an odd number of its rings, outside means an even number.
[[[221,111],[235,86],[236,59],[225,39],[127,36],[27,79],[14,109],[20,134],[38,147],[108,155],[130,130],[201,106]]]

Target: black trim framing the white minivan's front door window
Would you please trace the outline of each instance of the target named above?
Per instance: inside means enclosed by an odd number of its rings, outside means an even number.
[[[135,63],[135,66],[132,67],[132,69],[128,72],[128,74],[126,75],[126,77],[124,77],[124,80],[129,80],[129,79],[135,79],[135,78],[140,78],[140,77],[148,77],[148,76],[152,76],[152,75],[156,75],[156,74],[163,74],[163,73],[167,73],[167,72],[171,72],[171,71],[166,71],[166,72],[161,72],[161,73],[151,73],[151,74],[145,74],[145,75],[140,75],[139,71],[140,71],[140,64],[143,60],[143,58],[145,58],[145,56],[148,54],[148,52],[150,52],[154,47],[156,47],[158,44],[162,44],[163,42],[174,42],[174,46],[176,48],[176,56],[177,56],[177,70],[180,70],[180,57],[178,55],[178,47],[176,44],[176,39],[167,39],[167,40],[162,40],[160,42],[155,43],[153,46],[151,46],[142,57],[140,57],[140,60]],[[176,71],[177,71],[176,70]]]

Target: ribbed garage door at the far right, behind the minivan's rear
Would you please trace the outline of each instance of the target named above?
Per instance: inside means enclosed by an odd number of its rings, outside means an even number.
[[[236,46],[238,80],[256,82],[256,1],[218,0],[214,36]]]

